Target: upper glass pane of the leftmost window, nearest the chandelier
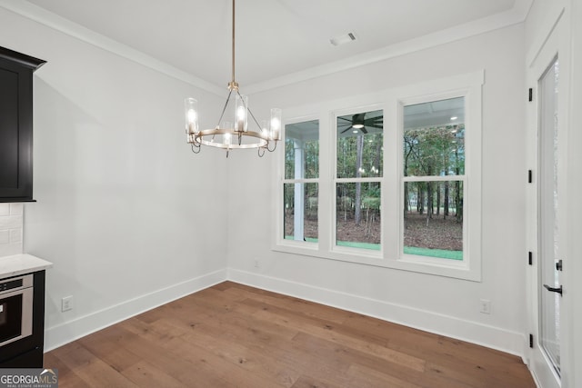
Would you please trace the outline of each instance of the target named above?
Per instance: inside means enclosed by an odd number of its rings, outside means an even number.
[[[319,120],[285,126],[285,179],[319,176]]]

